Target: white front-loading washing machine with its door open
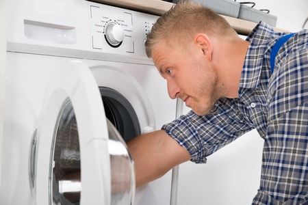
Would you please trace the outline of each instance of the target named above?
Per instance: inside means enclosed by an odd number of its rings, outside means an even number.
[[[170,203],[170,172],[135,190],[125,145],[175,119],[144,52],[156,19],[85,0],[8,1],[0,204]]]

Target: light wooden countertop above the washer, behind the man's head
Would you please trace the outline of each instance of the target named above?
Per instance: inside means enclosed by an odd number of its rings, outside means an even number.
[[[138,12],[145,12],[148,14],[162,15],[164,12],[170,10],[173,3],[162,0],[92,0],[107,5],[115,5],[120,8],[127,8],[136,10]],[[257,23],[221,15],[230,23],[230,25],[239,34],[248,35]],[[275,31],[285,31],[284,29],[274,28]]]

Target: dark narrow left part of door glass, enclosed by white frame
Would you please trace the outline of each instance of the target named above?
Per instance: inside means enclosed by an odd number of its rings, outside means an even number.
[[[79,204],[81,195],[81,163],[79,136],[73,105],[64,104],[58,118],[57,131],[51,149],[53,204]]]

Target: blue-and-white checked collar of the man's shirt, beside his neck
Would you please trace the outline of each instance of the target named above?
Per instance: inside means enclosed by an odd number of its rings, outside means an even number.
[[[268,42],[274,34],[274,29],[260,22],[251,31],[246,40],[250,42],[240,79],[240,87],[257,88],[264,57],[268,51]]]

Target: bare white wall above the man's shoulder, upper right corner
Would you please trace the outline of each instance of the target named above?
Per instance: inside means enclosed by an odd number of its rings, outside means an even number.
[[[242,0],[244,1],[244,0]],[[240,2],[240,0],[238,0]],[[270,14],[277,16],[276,27],[289,31],[298,31],[303,28],[308,17],[307,0],[254,0],[256,9],[268,9]]]

